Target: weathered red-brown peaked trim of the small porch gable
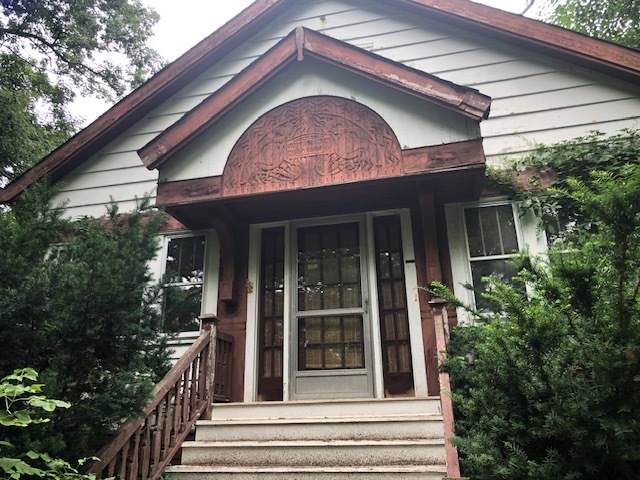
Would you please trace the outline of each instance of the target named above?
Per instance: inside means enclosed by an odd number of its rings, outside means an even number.
[[[344,68],[375,82],[480,121],[489,114],[491,99],[420,70],[358,47],[297,27],[273,48],[238,73],[197,107],[138,151],[147,168],[157,168],[170,156],[218,122],[240,101],[295,60],[311,57]]]

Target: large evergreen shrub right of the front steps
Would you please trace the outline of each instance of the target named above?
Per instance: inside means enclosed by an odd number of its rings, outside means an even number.
[[[486,296],[499,313],[469,309],[479,322],[453,332],[447,368],[463,471],[637,478],[640,136],[594,134],[525,164],[551,168],[554,185],[517,196],[566,228],[547,259],[518,260],[527,292],[494,280]],[[442,286],[435,293],[457,302]]]

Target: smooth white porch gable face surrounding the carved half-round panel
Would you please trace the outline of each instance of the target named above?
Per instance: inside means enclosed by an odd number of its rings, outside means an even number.
[[[442,107],[363,79],[342,69],[308,60],[295,63],[243,102],[160,169],[164,181],[221,175],[238,138],[264,113],[291,100],[313,95],[352,99],[377,112],[402,148],[478,138],[476,123]]]

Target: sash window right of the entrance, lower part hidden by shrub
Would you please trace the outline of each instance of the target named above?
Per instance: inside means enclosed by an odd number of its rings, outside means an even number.
[[[510,282],[517,273],[509,262],[519,250],[516,216],[511,204],[480,206],[465,208],[464,221],[476,308],[490,310],[489,300],[481,294],[487,288],[483,277]]]

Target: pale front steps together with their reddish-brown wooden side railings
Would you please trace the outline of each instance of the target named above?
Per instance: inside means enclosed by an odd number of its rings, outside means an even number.
[[[444,350],[446,307],[433,309]],[[230,403],[233,337],[215,320],[203,319],[145,417],[97,454],[98,479],[155,480],[165,470],[183,480],[460,477],[445,372],[440,396]]]

